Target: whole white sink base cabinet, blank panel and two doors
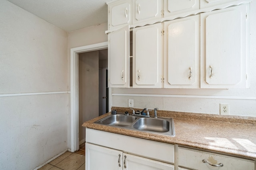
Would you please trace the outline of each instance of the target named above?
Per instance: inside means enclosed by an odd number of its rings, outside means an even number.
[[[174,170],[174,145],[86,128],[86,170]]]

